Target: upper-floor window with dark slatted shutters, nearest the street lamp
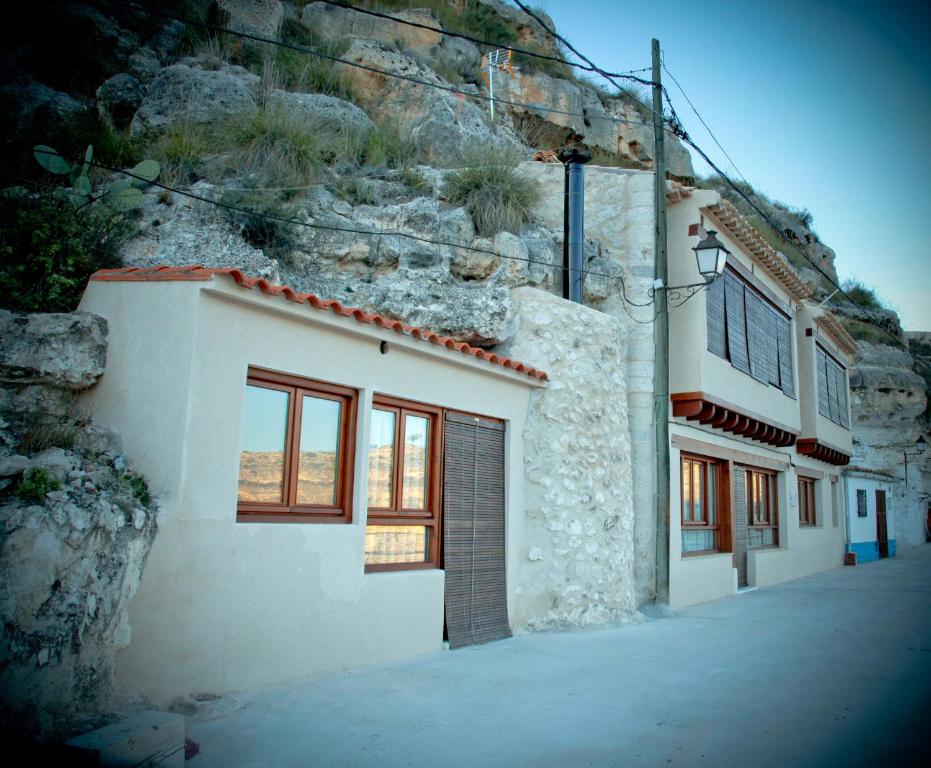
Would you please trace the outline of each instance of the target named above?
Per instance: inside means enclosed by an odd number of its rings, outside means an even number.
[[[708,351],[795,397],[792,324],[730,269],[708,289]]]

